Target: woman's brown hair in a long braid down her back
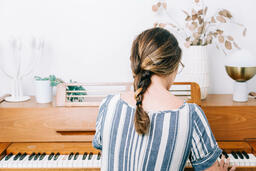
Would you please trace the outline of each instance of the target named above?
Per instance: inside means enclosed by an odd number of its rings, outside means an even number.
[[[150,126],[150,119],[142,102],[143,95],[151,84],[151,76],[170,75],[177,70],[180,59],[178,41],[163,28],[146,30],[134,40],[130,60],[136,99],[134,124],[139,134],[146,134]]]

